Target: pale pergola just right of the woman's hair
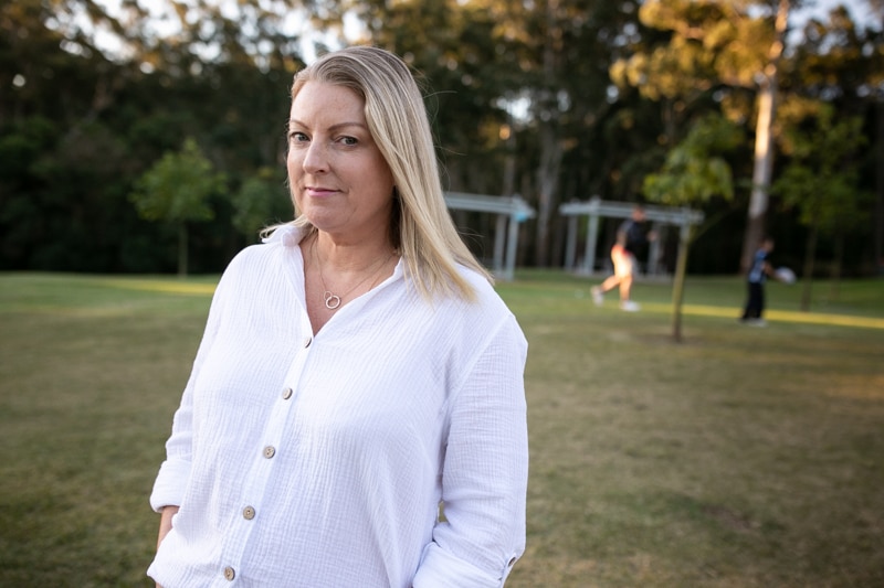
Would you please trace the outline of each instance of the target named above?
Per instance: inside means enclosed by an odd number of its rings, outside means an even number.
[[[506,281],[512,281],[516,270],[518,250],[518,225],[533,218],[532,209],[518,194],[513,196],[490,196],[445,192],[445,204],[451,210],[487,212],[497,215],[494,231],[494,257],[492,272]]]

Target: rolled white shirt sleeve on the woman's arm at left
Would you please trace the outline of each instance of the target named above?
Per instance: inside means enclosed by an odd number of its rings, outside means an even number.
[[[180,506],[185,488],[190,478],[193,440],[193,385],[218,331],[223,307],[223,281],[222,277],[212,297],[202,341],[181,396],[181,404],[172,418],[171,436],[166,441],[166,460],[160,464],[159,473],[154,481],[150,507],[156,512],[160,512],[164,506]]]

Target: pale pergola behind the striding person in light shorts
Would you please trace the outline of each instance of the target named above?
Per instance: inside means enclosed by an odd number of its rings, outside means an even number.
[[[566,202],[561,204],[559,206],[559,214],[568,216],[568,234],[565,246],[565,269],[570,269],[578,274],[592,275],[596,269],[596,252],[598,249],[599,240],[599,218],[629,218],[632,215],[632,210],[634,207],[634,203],[604,201],[598,196],[593,196],[586,202]],[[651,222],[653,231],[655,231],[657,234],[657,238],[652,240],[649,247],[645,274],[649,276],[659,276],[663,274],[660,270],[659,260],[661,245],[665,242],[666,227],[673,225],[678,227],[678,246],[684,247],[691,227],[702,223],[704,215],[699,211],[694,211],[687,207],[643,204],[642,209],[644,209],[645,218]],[[578,265],[578,220],[583,215],[587,216],[587,239],[583,259]],[[602,267],[604,267],[603,264]]]

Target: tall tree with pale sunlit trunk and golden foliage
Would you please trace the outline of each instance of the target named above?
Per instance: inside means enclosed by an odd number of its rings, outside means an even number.
[[[641,88],[652,99],[718,93],[725,111],[756,94],[753,189],[740,266],[748,267],[764,229],[772,175],[772,125],[778,76],[792,4],[778,0],[648,0],[639,12],[650,28],[670,31],[664,45],[612,65],[612,76]],[[737,116],[747,119],[740,108]]]

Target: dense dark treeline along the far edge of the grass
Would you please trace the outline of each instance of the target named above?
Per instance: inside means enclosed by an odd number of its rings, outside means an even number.
[[[262,226],[291,218],[288,85],[345,30],[421,73],[446,188],[519,193],[537,209],[522,265],[561,265],[558,205],[599,195],[702,209],[691,270],[737,271],[759,191],[781,263],[802,267],[811,250],[809,271],[882,265],[881,21],[839,9],[799,29],[801,2],[786,0],[160,4],[165,15],[136,0],[113,12],[96,0],[0,6],[0,269],[173,271],[182,242],[191,271],[223,268]],[[771,82],[776,157],[759,185],[758,96]],[[711,135],[723,124],[727,141]],[[714,158],[733,191],[704,190],[680,153]],[[148,206],[151,186],[175,185],[176,161],[204,161],[218,181]],[[663,194],[649,178],[699,190]],[[490,256],[493,220],[456,220]]]

